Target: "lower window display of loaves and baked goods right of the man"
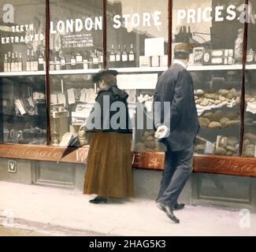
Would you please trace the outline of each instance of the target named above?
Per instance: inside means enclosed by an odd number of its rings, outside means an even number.
[[[210,73],[210,74],[209,74]],[[198,154],[239,154],[239,71],[191,72],[201,126],[195,142]]]

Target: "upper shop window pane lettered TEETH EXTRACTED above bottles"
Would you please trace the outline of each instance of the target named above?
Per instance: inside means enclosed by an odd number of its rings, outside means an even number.
[[[1,1],[0,9],[1,72],[45,70],[45,1]]]

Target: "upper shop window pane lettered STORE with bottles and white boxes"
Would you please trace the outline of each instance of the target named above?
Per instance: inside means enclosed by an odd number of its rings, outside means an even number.
[[[106,8],[109,68],[167,66],[168,1],[109,0]]]

